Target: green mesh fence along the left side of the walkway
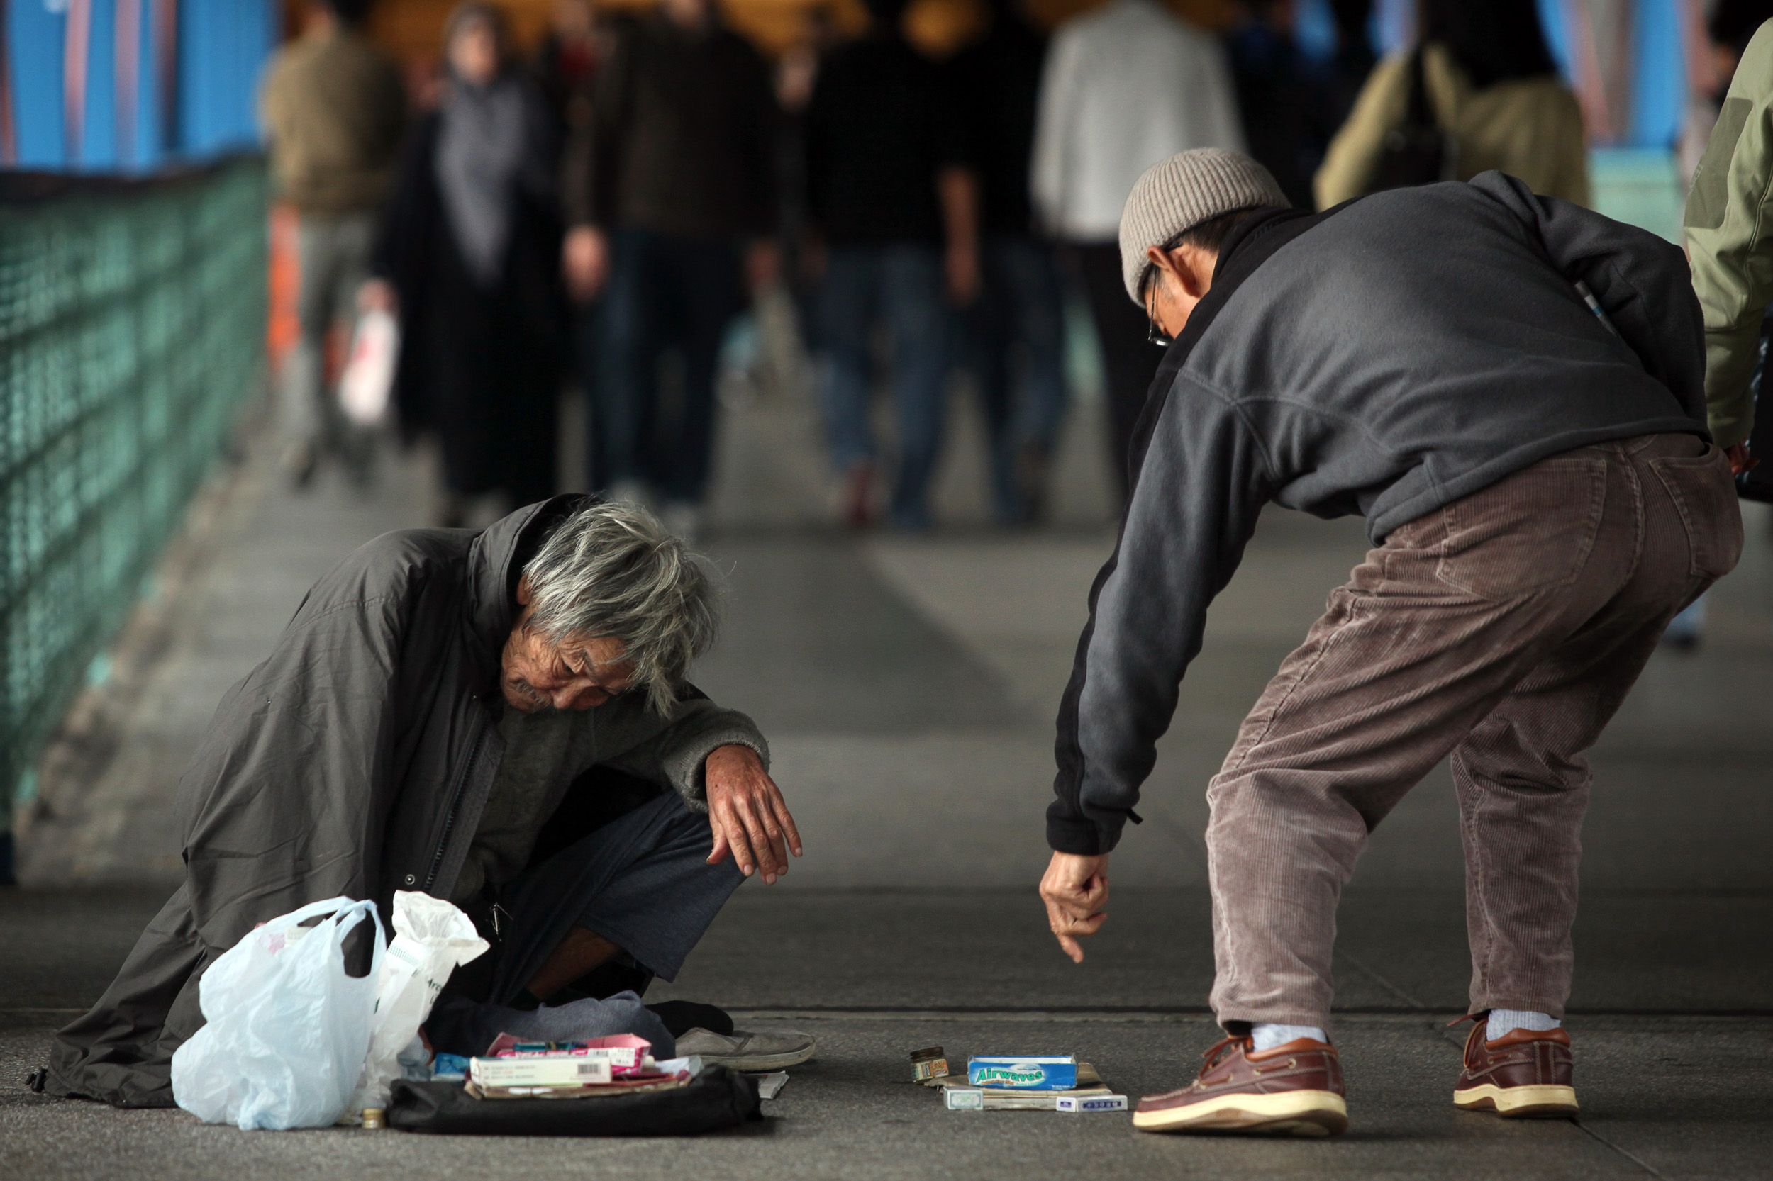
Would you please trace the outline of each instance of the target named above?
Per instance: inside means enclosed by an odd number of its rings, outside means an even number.
[[[44,190],[0,190],[0,830],[264,369],[257,160]]]

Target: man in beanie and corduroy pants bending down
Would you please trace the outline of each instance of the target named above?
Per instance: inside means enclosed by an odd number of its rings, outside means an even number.
[[[1454,1103],[1567,1115],[1583,752],[1741,551],[1686,261],[1500,172],[1285,204],[1223,151],[1172,156],[1126,204],[1128,294],[1174,342],[1060,706],[1053,933],[1082,959],[1103,922],[1110,849],[1261,507],[1362,514],[1374,550],[1207,787],[1211,1000],[1230,1036],[1133,1122],[1346,1126],[1337,899],[1447,755],[1477,1020]]]

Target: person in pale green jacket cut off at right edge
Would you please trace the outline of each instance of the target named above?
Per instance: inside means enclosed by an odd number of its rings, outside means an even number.
[[[1743,51],[1686,199],[1686,254],[1706,316],[1706,417],[1738,473],[1750,466],[1750,381],[1773,303],[1773,21]]]

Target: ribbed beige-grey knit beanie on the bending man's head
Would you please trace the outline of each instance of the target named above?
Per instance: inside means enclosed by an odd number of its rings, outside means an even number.
[[[1197,147],[1175,153],[1145,168],[1121,213],[1121,277],[1126,294],[1140,303],[1151,259],[1147,246],[1167,246],[1202,222],[1222,213],[1289,207],[1293,202],[1275,184],[1268,168],[1243,153],[1223,147]]]

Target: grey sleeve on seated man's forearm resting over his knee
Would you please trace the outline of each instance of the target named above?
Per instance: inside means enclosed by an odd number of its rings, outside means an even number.
[[[699,812],[707,810],[702,763],[718,747],[750,747],[769,768],[769,743],[757,723],[738,709],[722,709],[699,692],[684,697],[668,716],[645,708],[640,695],[622,699],[599,718],[598,763],[676,789]]]

